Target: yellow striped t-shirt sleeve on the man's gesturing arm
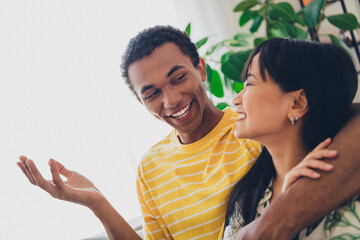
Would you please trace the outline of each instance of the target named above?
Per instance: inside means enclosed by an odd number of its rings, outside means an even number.
[[[151,194],[139,171],[136,181],[137,193],[144,222],[144,239],[170,239],[170,234],[153,202]]]

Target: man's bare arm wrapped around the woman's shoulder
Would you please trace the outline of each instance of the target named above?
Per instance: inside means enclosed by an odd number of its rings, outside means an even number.
[[[241,229],[238,239],[291,239],[291,237],[360,194],[360,104],[353,117],[333,139],[338,151],[334,168],[318,180],[302,178],[274,201],[260,218]]]

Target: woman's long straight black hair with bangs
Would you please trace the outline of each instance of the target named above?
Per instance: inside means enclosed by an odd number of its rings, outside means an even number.
[[[250,54],[243,80],[258,54],[263,79],[267,72],[284,92],[304,90],[309,108],[303,117],[302,139],[308,150],[326,138],[334,137],[349,117],[358,85],[350,55],[331,44],[271,39]],[[275,173],[271,155],[264,147],[256,163],[235,185],[230,195],[225,226],[229,223],[236,202],[244,223],[254,220],[257,205]]]

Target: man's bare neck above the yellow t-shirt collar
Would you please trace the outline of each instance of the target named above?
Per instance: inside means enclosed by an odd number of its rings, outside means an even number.
[[[205,108],[200,126],[191,133],[179,132],[179,140],[182,144],[189,144],[200,140],[211,132],[221,121],[224,112],[215,107],[212,103]]]

